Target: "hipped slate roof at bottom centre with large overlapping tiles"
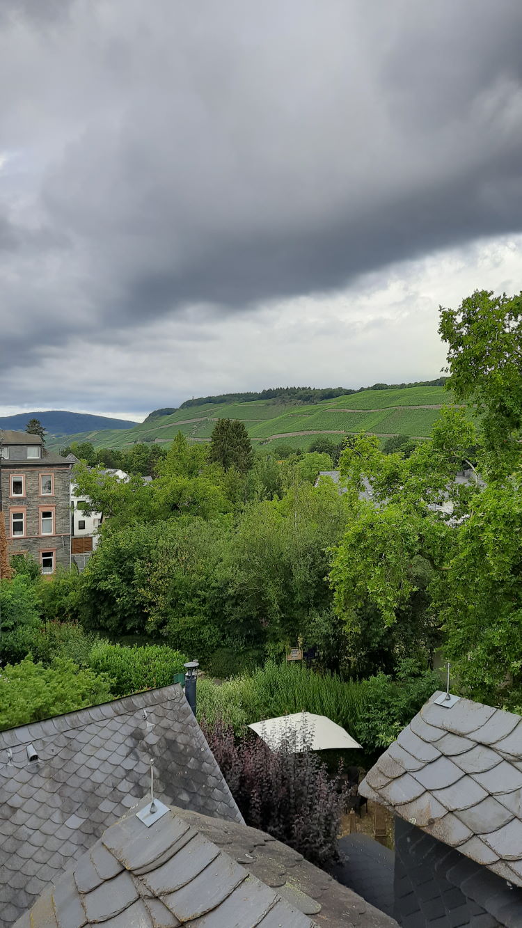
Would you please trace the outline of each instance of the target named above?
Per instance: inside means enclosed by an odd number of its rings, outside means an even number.
[[[47,887],[16,928],[396,925],[262,831],[179,808],[147,828],[135,812]]]

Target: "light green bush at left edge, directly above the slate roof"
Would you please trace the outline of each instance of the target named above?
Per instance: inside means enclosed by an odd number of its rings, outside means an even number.
[[[0,675],[0,730],[110,699],[108,678],[57,658],[50,667],[29,658]]]

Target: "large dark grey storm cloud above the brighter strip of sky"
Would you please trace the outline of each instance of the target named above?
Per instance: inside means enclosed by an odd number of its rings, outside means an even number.
[[[117,343],[520,229],[519,0],[0,13],[6,381],[82,332]]]

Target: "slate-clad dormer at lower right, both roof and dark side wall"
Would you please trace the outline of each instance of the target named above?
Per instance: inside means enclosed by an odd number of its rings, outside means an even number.
[[[436,692],[359,787],[395,815],[404,928],[522,928],[522,717]]]

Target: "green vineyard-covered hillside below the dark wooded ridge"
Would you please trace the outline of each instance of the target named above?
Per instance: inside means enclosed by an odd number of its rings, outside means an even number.
[[[176,432],[193,441],[208,441],[216,419],[241,419],[252,442],[280,442],[306,447],[310,433],[331,433],[342,438],[350,432],[375,432],[377,435],[429,435],[439,416],[440,406],[452,402],[443,387],[404,387],[400,390],[366,390],[324,400],[311,406],[291,405],[274,400],[248,403],[223,403],[177,409],[169,416],[148,419],[130,429],[103,429],[79,432],[66,437],[49,436],[49,448],[70,442],[89,441],[96,448],[124,448],[135,442],[169,443]],[[309,434],[306,434],[309,433]]]

